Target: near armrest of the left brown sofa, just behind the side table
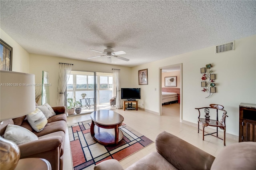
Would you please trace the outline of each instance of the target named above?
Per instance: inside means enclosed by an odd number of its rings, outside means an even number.
[[[18,144],[20,148],[20,158],[29,157],[31,155],[40,154],[58,148],[62,144],[62,137],[54,136],[49,138],[43,138],[34,140],[32,142],[26,142]]]

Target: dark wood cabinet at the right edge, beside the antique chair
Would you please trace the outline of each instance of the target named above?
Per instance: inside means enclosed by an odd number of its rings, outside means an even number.
[[[239,105],[239,142],[256,142],[256,104]]]

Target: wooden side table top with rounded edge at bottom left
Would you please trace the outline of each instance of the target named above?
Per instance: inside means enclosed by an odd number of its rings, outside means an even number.
[[[43,158],[20,159],[14,170],[52,170],[50,162]]]

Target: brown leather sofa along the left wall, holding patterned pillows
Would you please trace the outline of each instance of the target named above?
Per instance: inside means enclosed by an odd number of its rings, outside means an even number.
[[[4,135],[8,124],[19,125],[34,132],[38,136],[38,140],[18,144],[20,148],[20,159],[22,158],[44,158],[48,160],[52,166],[52,170],[63,169],[63,153],[66,131],[66,114],[65,107],[52,107],[55,116],[48,119],[48,123],[40,132],[36,132],[25,119],[26,116],[16,119],[8,119],[3,121],[0,134]],[[25,119],[25,120],[24,120]]]

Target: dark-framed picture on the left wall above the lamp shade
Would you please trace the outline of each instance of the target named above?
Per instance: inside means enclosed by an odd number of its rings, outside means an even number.
[[[0,39],[0,70],[12,71],[12,47]]]

